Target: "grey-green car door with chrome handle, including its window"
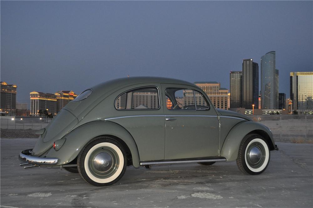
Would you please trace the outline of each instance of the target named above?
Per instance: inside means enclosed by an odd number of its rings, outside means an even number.
[[[192,86],[162,84],[162,89],[164,159],[218,156],[219,121],[207,97]]]

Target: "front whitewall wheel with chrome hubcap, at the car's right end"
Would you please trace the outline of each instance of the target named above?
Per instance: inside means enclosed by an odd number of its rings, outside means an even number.
[[[240,143],[237,165],[245,174],[262,173],[269,164],[269,146],[259,134],[249,134]]]

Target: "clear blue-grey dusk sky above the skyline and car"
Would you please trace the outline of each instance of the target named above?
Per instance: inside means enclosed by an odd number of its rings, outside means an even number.
[[[1,1],[1,81],[79,94],[103,81],[163,76],[229,89],[242,60],[276,51],[279,92],[313,70],[313,1]],[[260,88],[259,88],[260,89]]]

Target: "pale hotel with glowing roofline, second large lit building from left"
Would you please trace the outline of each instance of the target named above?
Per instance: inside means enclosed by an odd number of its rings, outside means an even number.
[[[57,114],[57,96],[51,93],[32,91],[30,93],[31,116],[39,116],[39,111],[44,112],[45,110],[49,114]]]

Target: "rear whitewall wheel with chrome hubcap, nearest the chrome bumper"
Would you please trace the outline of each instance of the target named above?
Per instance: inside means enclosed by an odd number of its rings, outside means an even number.
[[[80,176],[89,184],[107,186],[117,182],[126,170],[126,153],[113,138],[98,137],[87,143],[77,159]]]

